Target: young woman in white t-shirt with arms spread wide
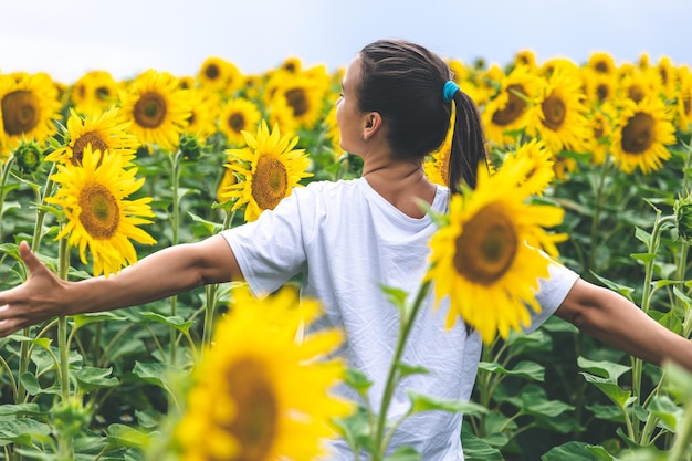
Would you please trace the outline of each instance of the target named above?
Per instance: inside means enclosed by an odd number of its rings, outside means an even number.
[[[229,280],[244,280],[262,295],[302,273],[303,295],[322,302],[321,325],[345,331],[342,353],[350,366],[374,380],[370,398],[378,408],[398,332],[398,312],[379,284],[408,291],[419,286],[429,239],[437,231],[419,200],[445,211],[457,185],[475,186],[475,169],[485,156],[478,111],[450,80],[444,61],[422,46],[399,40],[368,44],[348,66],[337,103],[342,146],[363,158],[360,178],[312,182],[252,223],[162,250],[108,279],[59,280],[23,243],[20,249],[30,277],[0,293],[0,335],[52,316],[76,314],[75,308],[94,312],[141,305]],[[426,178],[422,164],[444,140],[452,103],[457,116],[448,190]],[[538,302],[543,310],[527,331],[556,314],[629,354],[654,364],[673,359],[692,369],[690,342],[622,296],[583,281],[562,265],[553,264],[551,277],[541,282]],[[469,399],[481,339],[466,332],[463,322],[445,331],[444,317],[444,306],[420,313],[403,362],[423,365],[430,374],[402,383],[391,417],[407,411],[406,389]],[[346,388],[342,391],[348,394]],[[460,415],[416,415],[400,427],[390,448],[408,444],[426,460],[461,460],[460,430]],[[353,459],[345,442],[336,442],[334,450],[336,460]]]

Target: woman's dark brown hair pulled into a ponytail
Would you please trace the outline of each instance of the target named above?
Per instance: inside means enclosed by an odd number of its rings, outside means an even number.
[[[442,97],[452,78],[436,53],[406,40],[378,40],[360,51],[361,112],[377,112],[387,125],[389,144],[402,158],[422,159],[444,142],[451,102]],[[475,187],[479,164],[485,161],[485,139],[478,107],[462,91],[454,94],[457,117],[449,164],[450,190],[461,182]]]

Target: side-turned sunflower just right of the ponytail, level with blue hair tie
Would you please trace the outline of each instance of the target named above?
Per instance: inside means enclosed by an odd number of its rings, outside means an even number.
[[[512,132],[526,125],[526,114],[539,85],[539,77],[526,66],[514,67],[502,80],[500,92],[486,103],[482,114],[489,140],[500,146],[514,143]]]

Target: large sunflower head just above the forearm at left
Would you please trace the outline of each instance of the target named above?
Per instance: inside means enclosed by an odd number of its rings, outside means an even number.
[[[125,169],[122,155],[109,150],[83,150],[82,165],[57,164],[51,176],[60,189],[46,202],[62,207],[67,219],[56,239],[67,238],[67,244],[78,247],[84,264],[86,248],[94,259],[94,275],[116,273],[137,261],[129,239],[154,244],[148,233],[137,228],[148,224],[154,212],[151,198],[127,200],[126,197],[141,188],[144,178],[136,179],[136,168]]]

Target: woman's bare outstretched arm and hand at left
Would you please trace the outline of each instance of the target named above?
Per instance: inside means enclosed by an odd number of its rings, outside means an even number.
[[[60,280],[25,242],[20,254],[29,277],[0,292],[0,337],[57,315],[141,305],[197,286],[242,280],[235,255],[221,235],[158,251],[107,279],[80,282]]]

